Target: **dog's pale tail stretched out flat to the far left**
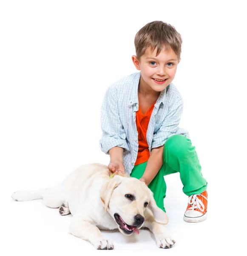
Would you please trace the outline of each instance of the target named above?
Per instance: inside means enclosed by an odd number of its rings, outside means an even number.
[[[46,189],[37,189],[37,190],[19,190],[14,192],[11,195],[11,198],[13,198],[15,201],[31,201],[34,199],[43,199],[43,196]]]

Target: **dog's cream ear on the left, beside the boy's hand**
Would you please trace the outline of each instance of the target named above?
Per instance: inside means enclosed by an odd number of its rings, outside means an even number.
[[[119,184],[121,183],[121,178],[122,178],[121,176],[114,176],[112,179],[109,179],[101,189],[100,199],[105,205],[106,212],[111,199],[111,195],[114,189],[116,189],[116,187],[118,187]]]

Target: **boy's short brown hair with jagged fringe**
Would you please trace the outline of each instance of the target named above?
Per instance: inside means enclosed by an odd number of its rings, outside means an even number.
[[[142,27],[135,36],[136,57],[139,59],[148,47],[151,50],[157,48],[157,54],[165,46],[173,51],[180,58],[182,37],[176,29],[163,21],[152,21]]]

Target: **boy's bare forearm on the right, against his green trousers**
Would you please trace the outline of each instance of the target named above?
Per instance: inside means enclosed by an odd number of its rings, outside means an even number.
[[[153,148],[151,151],[145,172],[140,178],[140,180],[145,182],[147,186],[159,172],[159,169],[163,164],[163,150],[164,145],[158,148]]]

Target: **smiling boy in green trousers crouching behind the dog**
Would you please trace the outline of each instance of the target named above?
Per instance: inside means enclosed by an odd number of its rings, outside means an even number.
[[[139,73],[108,88],[101,109],[101,150],[110,154],[108,169],[127,172],[146,183],[164,208],[164,176],[180,173],[189,196],[184,220],[207,218],[207,181],[186,130],[179,128],[183,101],[172,84],[182,38],[162,21],[145,25],[135,36],[133,64]]]

